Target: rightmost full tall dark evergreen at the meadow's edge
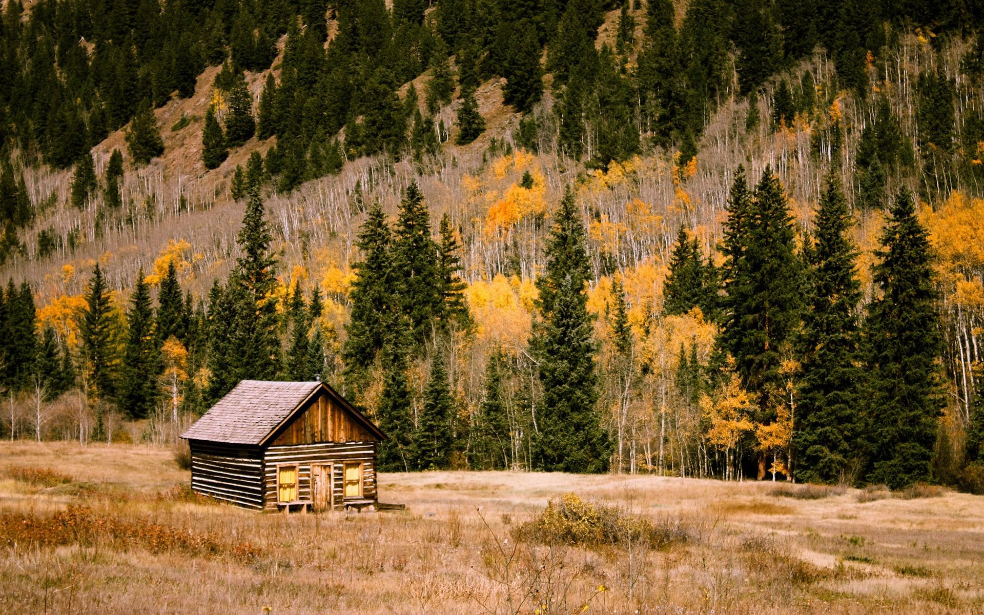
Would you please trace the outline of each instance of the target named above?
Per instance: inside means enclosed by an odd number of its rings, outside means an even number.
[[[895,197],[873,270],[877,298],[864,323],[869,374],[868,480],[901,488],[930,477],[943,404],[937,360],[942,350],[928,234],[912,196]]]

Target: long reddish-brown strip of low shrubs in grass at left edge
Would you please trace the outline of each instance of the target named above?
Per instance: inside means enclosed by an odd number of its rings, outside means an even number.
[[[230,543],[215,534],[172,525],[96,515],[86,506],[69,506],[48,516],[0,514],[0,541],[10,547],[108,543],[116,548],[143,548],[151,553],[179,551],[192,556],[231,556],[242,561],[260,554],[249,542]]]

